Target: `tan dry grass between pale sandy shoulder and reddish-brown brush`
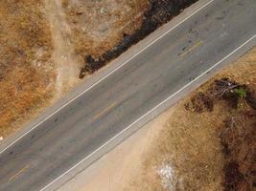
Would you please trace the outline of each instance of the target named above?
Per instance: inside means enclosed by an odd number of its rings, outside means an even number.
[[[174,183],[180,190],[221,190],[221,145],[213,125],[222,125],[225,115],[218,119],[212,116],[220,114],[223,108],[220,105],[214,113],[199,116],[178,106],[152,146],[141,180],[128,190],[165,190],[157,170],[166,163],[175,169]]]

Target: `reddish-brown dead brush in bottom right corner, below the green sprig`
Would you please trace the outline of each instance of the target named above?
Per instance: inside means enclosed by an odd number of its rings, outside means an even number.
[[[255,110],[243,111],[225,120],[221,131],[221,144],[226,159],[223,168],[225,191],[252,191],[255,188],[255,140]]]

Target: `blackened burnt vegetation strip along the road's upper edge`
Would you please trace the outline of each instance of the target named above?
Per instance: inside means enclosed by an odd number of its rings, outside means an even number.
[[[102,68],[107,62],[124,53],[128,48],[154,32],[161,25],[170,21],[180,11],[198,0],[150,0],[151,9],[144,13],[141,28],[131,35],[123,34],[123,40],[113,49],[103,53],[100,57],[92,55],[85,57],[85,66],[81,69],[80,78],[85,74],[92,74]]]

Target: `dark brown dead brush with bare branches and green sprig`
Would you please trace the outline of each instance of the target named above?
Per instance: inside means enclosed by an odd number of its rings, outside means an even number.
[[[253,190],[256,180],[256,102],[251,90],[228,78],[215,80],[203,93],[192,96],[193,112],[201,113],[208,102],[223,100],[228,115],[220,128],[222,151],[225,157],[223,185],[226,191]],[[211,97],[211,98],[205,98]],[[206,101],[205,101],[206,99]],[[211,105],[213,108],[213,105]]]

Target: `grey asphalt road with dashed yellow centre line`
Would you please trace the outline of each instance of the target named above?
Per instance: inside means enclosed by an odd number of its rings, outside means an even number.
[[[48,190],[255,34],[255,0],[212,2],[1,153],[0,190]]]

